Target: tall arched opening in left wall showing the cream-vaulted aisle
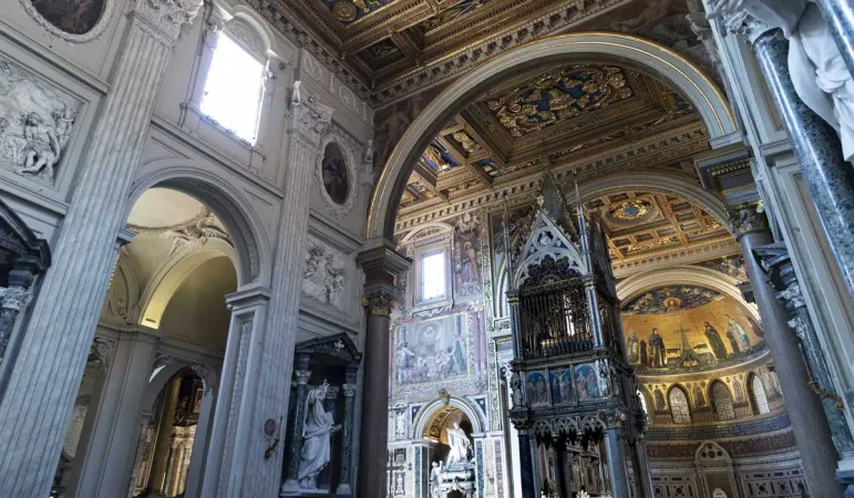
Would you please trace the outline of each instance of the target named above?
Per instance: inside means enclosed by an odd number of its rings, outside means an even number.
[[[240,330],[226,300],[257,277],[257,255],[231,237],[205,193],[157,186],[135,197],[132,240],[119,251],[93,344],[107,366],[94,387],[81,387],[90,402],[75,411],[80,444],[54,496],[200,492],[222,365]]]

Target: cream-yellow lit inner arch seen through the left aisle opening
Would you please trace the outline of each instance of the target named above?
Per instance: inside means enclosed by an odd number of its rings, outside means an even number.
[[[191,252],[175,253],[161,266],[140,299],[141,325],[158,329],[163,313],[173,294],[193,271],[214,258],[227,257],[237,268],[237,253],[226,241],[208,239],[205,245]]]

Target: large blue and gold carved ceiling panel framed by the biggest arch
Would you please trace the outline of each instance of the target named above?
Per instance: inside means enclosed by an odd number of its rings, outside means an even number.
[[[486,102],[514,137],[605,107],[634,94],[620,68],[577,64],[549,71]]]

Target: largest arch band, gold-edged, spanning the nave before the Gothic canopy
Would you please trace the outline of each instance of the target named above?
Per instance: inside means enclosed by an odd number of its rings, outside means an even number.
[[[495,81],[545,64],[594,59],[649,73],[679,91],[702,117],[712,146],[739,139],[735,120],[722,93],[694,64],[670,49],[638,37],[613,32],[580,32],[536,40],[469,71],[412,122],[392,151],[374,188],[367,237],[391,238],[397,201],[418,156],[449,120],[493,86]]]

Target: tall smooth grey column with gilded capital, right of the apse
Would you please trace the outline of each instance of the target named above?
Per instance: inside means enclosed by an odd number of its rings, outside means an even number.
[[[732,226],[744,257],[744,268],[753,288],[753,299],[762,317],[762,330],[776,365],[780,387],[789,407],[804,475],[813,496],[840,496],[834,481],[836,452],[824,417],[821,400],[807,385],[810,372],[801,356],[798,336],[789,326],[785,305],[776,299],[753,250],[773,242],[768,219],[755,206],[741,206]]]

